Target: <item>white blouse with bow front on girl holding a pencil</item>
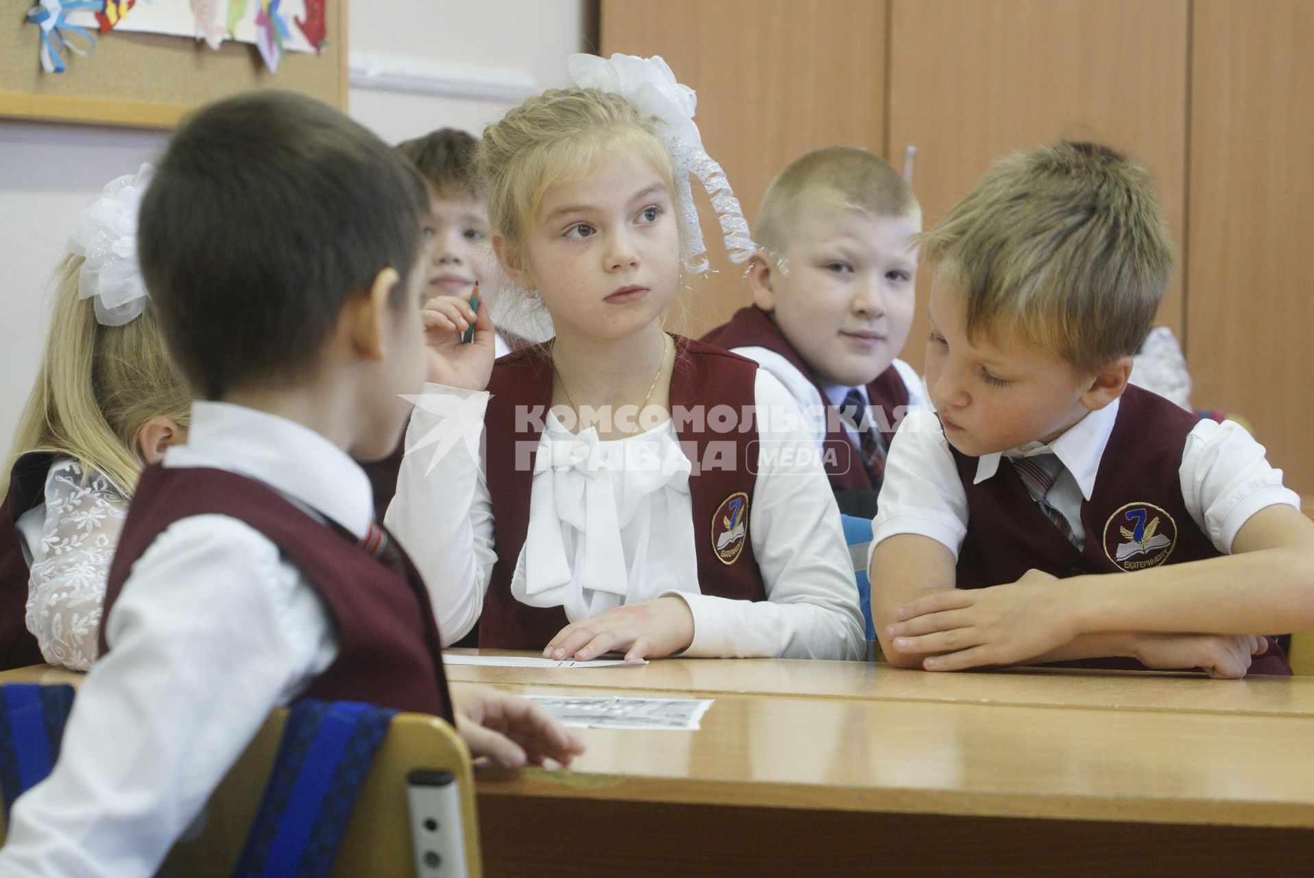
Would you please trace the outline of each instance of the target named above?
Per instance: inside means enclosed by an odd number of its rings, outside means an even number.
[[[411,415],[388,527],[415,560],[447,643],[480,618],[497,561],[478,452],[486,392],[426,385]],[[763,451],[749,539],[766,601],[706,595],[698,582],[691,464],[670,421],[623,439],[570,434],[548,419],[536,453],[526,544],[512,594],[578,620],[678,594],[694,614],[687,656],[859,658],[862,614],[840,515],[798,406],[758,369]],[[803,453],[796,453],[802,450]],[[545,645],[545,644],[544,644]]]

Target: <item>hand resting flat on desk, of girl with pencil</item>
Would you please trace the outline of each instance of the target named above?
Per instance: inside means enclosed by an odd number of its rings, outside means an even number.
[[[597,658],[624,649],[625,660],[660,658],[694,643],[694,614],[682,598],[669,597],[607,610],[562,628],[544,658]]]

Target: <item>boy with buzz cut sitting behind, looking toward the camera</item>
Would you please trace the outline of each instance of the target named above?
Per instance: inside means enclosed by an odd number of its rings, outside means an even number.
[[[896,359],[912,325],[921,208],[879,155],[833,146],[762,198],[753,305],[703,336],[774,375],[807,415],[840,511],[871,518],[890,438],[925,404]]]

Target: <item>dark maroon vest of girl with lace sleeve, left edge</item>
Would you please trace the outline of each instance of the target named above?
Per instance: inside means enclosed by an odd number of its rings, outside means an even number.
[[[46,474],[55,455],[30,452],[18,457],[9,473],[9,493],[0,509],[0,670],[45,661],[37,639],[28,631],[28,580],[32,570],[22,556],[18,519],[46,498]]]

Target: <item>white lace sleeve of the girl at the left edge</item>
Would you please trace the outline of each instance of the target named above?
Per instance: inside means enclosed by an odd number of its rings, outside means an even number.
[[[58,459],[46,476],[46,518],[32,548],[28,630],[51,664],[87,670],[99,653],[105,581],[127,517],[127,499],[76,460]]]

